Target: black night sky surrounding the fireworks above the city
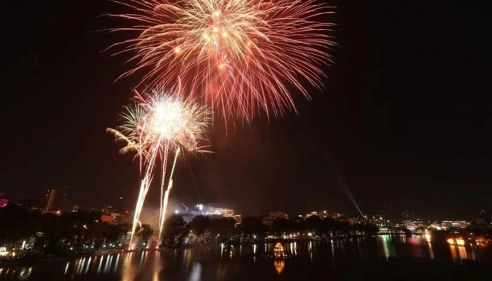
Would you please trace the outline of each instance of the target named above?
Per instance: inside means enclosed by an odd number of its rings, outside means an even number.
[[[202,202],[261,215],[328,209],[469,218],[492,209],[492,61],[486,1],[332,1],[336,64],[299,114],[259,118],[188,157]],[[1,18],[0,191],[39,198],[68,185],[82,206],[131,207],[137,163],[105,133],[138,77],[115,82],[126,57],[101,52],[131,34],[104,0],[8,1]],[[197,202],[188,166],[176,202]],[[155,191],[154,191],[155,192]],[[150,204],[156,204],[151,193]]]

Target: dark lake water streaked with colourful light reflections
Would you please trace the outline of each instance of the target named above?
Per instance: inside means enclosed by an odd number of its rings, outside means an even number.
[[[290,259],[262,257],[273,244],[106,254],[0,268],[0,280],[492,280],[492,249],[382,236],[284,244]]]

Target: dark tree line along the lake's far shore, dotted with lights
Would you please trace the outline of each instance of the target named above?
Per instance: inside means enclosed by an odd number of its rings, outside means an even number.
[[[268,222],[268,221],[267,221]],[[108,224],[101,221],[101,213],[83,211],[56,214],[41,214],[40,211],[20,207],[6,207],[0,211],[0,246],[20,244],[22,240],[33,245],[34,251],[56,254],[60,251],[91,251],[105,245],[125,247],[131,225]],[[354,225],[332,218],[310,216],[302,218],[275,218],[266,223],[262,217],[245,217],[241,223],[233,218],[210,218],[195,216],[186,222],[179,215],[166,219],[164,246],[179,246],[183,243],[206,242],[252,242],[268,239],[323,239],[347,237],[347,235],[375,235],[377,226]],[[138,241],[152,242],[154,230],[143,224],[138,226]],[[309,236],[308,236],[309,234]],[[157,243],[154,241],[153,243]],[[75,249],[75,250],[74,250]]]

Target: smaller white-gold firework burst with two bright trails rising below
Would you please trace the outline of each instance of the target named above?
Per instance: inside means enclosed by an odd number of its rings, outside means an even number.
[[[200,143],[207,141],[205,129],[209,124],[209,112],[207,107],[181,98],[179,95],[169,96],[164,91],[153,91],[144,96],[137,93],[134,105],[127,107],[127,111],[122,114],[122,117],[124,123],[118,126],[117,130],[108,129],[108,132],[115,135],[116,141],[127,143],[124,148],[119,150],[120,153],[136,152],[136,157],[140,159],[142,176],[129,249],[132,247],[136,226],[140,223],[143,202],[150,188],[150,183],[152,183],[158,159],[162,168],[159,237],[157,240],[157,247],[159,247],[176,160],[181,150],[202,151],[203,147],[200,146]],[[171,174],[167,178],[169,157],[174,159],[170,163]],[[166,181],[168,186],[164,192]]]

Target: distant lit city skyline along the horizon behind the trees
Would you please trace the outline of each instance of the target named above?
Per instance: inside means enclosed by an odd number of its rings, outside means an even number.
[[[40,211],[48,211],[52,212],[53,214],[62,214],[63,212],[66,211],[77,211],[77,210],[82,210],[82,211],[95,211],[95,210],[102,210],[102,213],[108,213],[108,211],[105,211],[105,209],[117,209],[116,213],[125,213],[125,214],[132,214],[131,210],[133,206],[131,205],[124,205],[123,204],[123,197],[118,197],[115,200],[112,200],[112,202],[105,202],[105,204],[101,205],[86,205],[86,206],[80,206],[77,204],[77,202],[69,202],[68,200],[70,199],[67,194],[69,193],[69,189],[67,186],[51,186],[51,185],[45,185],[44,190],[42,193],[42,196],[40,199],[32,199],[32,198],[24,198],[22,200],[12,200],[9,199],[5,196],[4,192],[0,192],[0,199],[3,199],[5,201],[5,204],[3,207],[7,207],[13,204],[16,204],[18,206],[22,207],[27,207],[27,209],[39,209]],[[391,221],[401,221],[401,220],[408,220],[408,221],[456,221],[456,220],[464,220],[464,221],[470,221],[478,218],[481,213],[484,214],[491,214],[492,216],[492,211],[488,209],[473,209],[473,210],[467,210],[460,216],[449,216],[445,215],[442,217],[431,217],[428,214],[420,214],[418,212],[415,212],[413,209],[406,209],[403,211],[400,211],[400,209],[391,209],[391,207],[388,204],[380,204],[377,206],[378,211],[375,211],[373,213],[365,213],[365,214],[360,214],[357,213],[356,210],[344,212],[344,211],[339,211],[337,209],[332,209],[330,206],[323,206],[323,207],[313,207],[311,209],[306,209],[304,212],[299,212],[299,214],[294,214],[290,212],[284,212],[284,209],[269,209],[264,214],[245,214],[242,213],[242,211],[238,209],[230,209],[231,207],[227,204],[214,204],[214,203],[207,203],[203,204],[203,202],[177,202],[176,200],[179,201],[178,199],[175,199],[174,202],[171,202],[170,204],[170,209],[169,209],[169,214],[168,216],[171,216],[172,214],[177,214],[177,215],[189,215],[193,214],[193,216],[197,214],[202,214],[204,216],[216,216],[219,214],[229,214],[228,216],[260,216],[260,217],[270,217],[270,218],[297,218],[298,216],[303,216],[308,217],[311,215],[315,216],[320,216],[321,218],[324,218],[325,216],[344,216],[347,218],[377,218],[379,216],[382,216],[384,218],[391,219]],[[111,201],[111,200],[110,200]],[[152,201],[152,200],[151,200]],[[190,206],[190,207],[188,207]],[[2,208],[2,207],[0,207]],[[148,211],[151,211],[152,209],[155,209],[155,212],[157,212],[157,205],[150,204],[150,206],[145,207],[145,211],[148,214]],[[268,209],[268,206],[266,206],[266,209]],[[372,209],[375,209],[373,207]],[[190,210],[188,212],[188,210]],[[329,210],[329,211],[328,211]],[[112,211],[110,211],[108,214],[110,214]],[[288,214],[287,214],[288,213]],[[144,218],[144,220],[147,220],[148,218]]]

